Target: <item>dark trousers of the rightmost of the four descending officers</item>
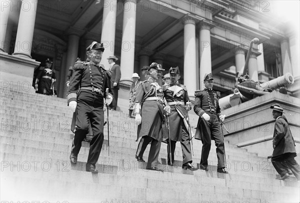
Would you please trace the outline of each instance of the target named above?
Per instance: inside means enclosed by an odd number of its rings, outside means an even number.
[[[225,167],[225,159],[224,159],[224,141],[223,135],[220,130],[219,121],[217,115],[215,113],[206,112],[210,119],[207,121],[210,129],[210,136],[203,136],[202,141],[202,153],[201,153],[201,161],[200,164],[207,167],[207,158],[210,151],[211,139],[214,139],[216,146],[216,156],[217,156],[217,168]],[[204,118],[202,118],[204,119]]]

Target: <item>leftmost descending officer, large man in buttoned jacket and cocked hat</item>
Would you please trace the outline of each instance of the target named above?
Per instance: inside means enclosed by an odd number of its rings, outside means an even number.
[[[104,51],[102,43],[93,41],[86,50],[90,61],[77,61],[74,64],[67,93],[67,103],[76,114],[70,161],[73,164],[77,163],[81,141],[88,133],[89,120],[93,137],[89,144],[86,171],[96,173],[98,171],[95,164],[99,158],[104,139],[103,97],[106,97],[106,101],[109,103],[112,96],[107,95],[106,92],[106,88],[111,92],[108,73],[102,66],[99,66]]]

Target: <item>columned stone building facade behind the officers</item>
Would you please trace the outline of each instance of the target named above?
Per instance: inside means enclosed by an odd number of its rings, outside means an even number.
[[[66,95],[66,76],[85,48],[102,42],[101,63],[115,55],[121,80],[133,72],[143,79],[144,65],[179,66],[180,83],[193,96],[205,73],[215,77],[215,90],[231,94],[250,41],[248,75],[269,81],[287,72],[299,96],[297,30],[274,18],[266,1],[236,0],[0,0],[1,80],[32,81],[34,68],[53,60],[57,95]],[[269,2],[271,3],[271,2]],[[266,12],[269,11],[269,12]],[[31,78],[31,79],[30,79]]]

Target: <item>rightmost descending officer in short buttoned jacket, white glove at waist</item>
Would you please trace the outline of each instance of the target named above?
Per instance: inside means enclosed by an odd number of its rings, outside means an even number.
[[[204,90],[195,91],[194,111],[199,116],[195,139],[202,141],[202,153],[200,168],[208,170],[207,158],[211,146],[211,139],[214,139],[217,156],[217,172],[228,173],[225,168],[224,139],[220,129],[220,121],[225,115],[221,115],[219,107],[220,92],[213,91],[213,76],[211,73],[204,75]]]

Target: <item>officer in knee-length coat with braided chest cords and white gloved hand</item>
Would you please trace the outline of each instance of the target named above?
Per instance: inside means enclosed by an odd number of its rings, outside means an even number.
[[[138,161],[143,161],[142,154],[151,141],[146,169],[157,171],[163,171],[157,168],[156,164],[162,140],[161,122],[164,119],[164,114],[163,92],[156,80],[160,78],[163,70],[161,65],[156,62],[150,64],[150,77],[138,85],[133,108],[133,115],[135,115],[135,121],[138,124],[137,135],[141,137],[135,157]]]

